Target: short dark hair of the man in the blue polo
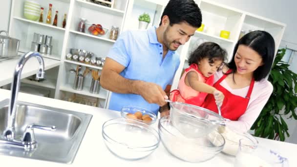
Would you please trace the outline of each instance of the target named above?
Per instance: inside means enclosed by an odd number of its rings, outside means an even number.
[[[164,9],[159,25],[162,24],[163,16],[169,17],[170,26],[185,21],[199,28],[202,22],[201,11],[194,0],[170,0]]]

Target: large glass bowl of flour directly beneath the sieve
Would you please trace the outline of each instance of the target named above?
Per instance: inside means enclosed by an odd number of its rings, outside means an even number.
[[[184,120],[180,124],[187,125]],[[159,134],[165,148],[173,156],[187,162],[203,162],[212,159],[225,145],[225,140],[216,130],[204,137],[190,139],[182,135],[171,123],[170,116],[159,120]]]

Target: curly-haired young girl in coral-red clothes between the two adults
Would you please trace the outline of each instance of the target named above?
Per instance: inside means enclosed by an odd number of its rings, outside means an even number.
[[[213,74],[221,66],[227,52],[214,42],[204,42],[191,54],[190,67],[185,69],[178,89],[170,92],[170,100],[201,106],[208,94],[213,94],[216,104],[221,105],[224,94],[214,87]]]

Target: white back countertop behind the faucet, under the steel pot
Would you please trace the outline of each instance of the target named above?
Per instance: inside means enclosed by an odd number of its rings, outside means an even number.
[[[44,69],[50,69],[60,64],[60,61],[43,58],[44,60]],[[12,82],[12,77],[14,69],[19,62],[19,59],[13,59],[10,61],[5,61],[0,63],[0,86],[5,84],[10,84]],[[39,63],[36,58],[29,59],[21,72],[21,79],[34,75],[38,72]]]

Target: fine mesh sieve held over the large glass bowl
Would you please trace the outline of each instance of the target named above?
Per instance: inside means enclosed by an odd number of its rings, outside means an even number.
[[[224,122],[223,117],[211,110],[179,102],[170,103],[170,118],[172,125],[188,138],[206,136]]]

